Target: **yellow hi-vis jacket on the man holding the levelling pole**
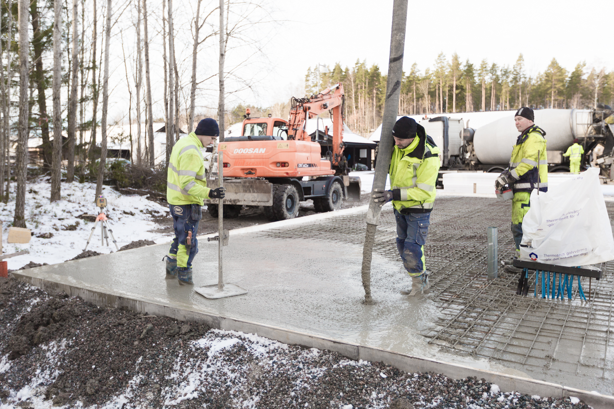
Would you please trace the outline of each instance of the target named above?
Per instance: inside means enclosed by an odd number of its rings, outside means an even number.
[[[168,163],[166,201],[169,204],[203,204],[209,197],[200,139],[191,132],[173,146]]]

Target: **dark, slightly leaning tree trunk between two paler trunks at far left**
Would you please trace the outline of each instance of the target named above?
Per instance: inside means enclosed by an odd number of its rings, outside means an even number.
[[[52,148],[49,143],[49,117],[47,117],[47,98],[45,97],[45,89],[47,83],[45,81],[45,72],[42,68],[42,52],[44,44],[42,44],[42,34],[39,21],[38,0],[33,0],[30,4],[30,15],[32,16],[32,49],[34,52],[34,80],[37,85],[38,105],[39,105],[39,123],[41,125],[42,138],[42,158],[43,171],[48,172],[51,169]]]

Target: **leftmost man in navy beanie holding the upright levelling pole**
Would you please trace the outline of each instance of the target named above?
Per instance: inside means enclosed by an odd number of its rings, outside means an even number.
[[[175,236],[165,256],[166,278],[177,278],[182,286],[193,284],[192,260],[198,253],[196,232],[202,217],[203,199],[225,196],[225,187],[207,187],[201,152],[203,147],[216,141],[219,134],[216,120],[201,120],[195,131],[175,143],[168,163],[166,201],[173,216]]]

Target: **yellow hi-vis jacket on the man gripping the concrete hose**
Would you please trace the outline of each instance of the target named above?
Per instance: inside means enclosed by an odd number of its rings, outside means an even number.
[[[427,213],[433,209],[435,184],[439,173],[440,150],[424,128],[418,124],[417,137],[410,146],[392,151],[391,189],[401,190],[401,200],[393,200],[398,212]]]

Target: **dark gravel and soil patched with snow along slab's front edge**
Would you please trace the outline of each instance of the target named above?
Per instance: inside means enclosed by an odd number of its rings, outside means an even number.
[[[0,278],[0,407],[588,408],[405,373]],[[6,406],[4,406],[6,405]]]

